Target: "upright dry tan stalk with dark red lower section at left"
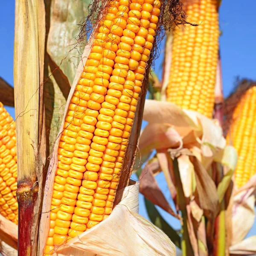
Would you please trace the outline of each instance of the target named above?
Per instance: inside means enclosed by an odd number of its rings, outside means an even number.
[[[24,15],[26,14],[26,15]],[[44,177],[43,104],[45,9],[43,0],[16,1],[14,87],[17,124],[17,200],[20,256],[36,255]]]

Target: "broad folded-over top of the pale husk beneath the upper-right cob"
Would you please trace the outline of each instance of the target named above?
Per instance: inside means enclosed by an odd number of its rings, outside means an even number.
[[[182,110],[171,102],[146,100],[143,119],[148,121],[141,134],[139,148],[143,155],[154,149],[200,148],[212,158],[225,147],[221,127],[195,111]]]

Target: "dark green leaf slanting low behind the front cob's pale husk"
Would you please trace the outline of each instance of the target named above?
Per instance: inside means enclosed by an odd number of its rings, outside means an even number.
[[[181,248],[181,239],[179,234],[163,219],[154,204],[147,198],[144,199],[145,207],[147,209],[148,217],[151,222],[163,230],[164,233],[172,240],[172,242],[179,248]]]

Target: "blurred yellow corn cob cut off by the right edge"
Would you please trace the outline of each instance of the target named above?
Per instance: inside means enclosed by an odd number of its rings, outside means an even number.
[[[256,86],[250,87],[236,106],[227,144],[232,143],[238,152],[235,184],[238,188],[256,174]]]

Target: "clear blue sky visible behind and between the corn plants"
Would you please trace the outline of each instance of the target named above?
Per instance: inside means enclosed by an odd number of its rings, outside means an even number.
[[[76,3],[75,0],[73,2]],[[225,96],[233,89],[233,82],[237,76],[256,80],[255,9],[255,0],[233,0],[232,3],[229,0],[222,0],[220,27],[223,35],[220,38],[220,46]],[[15,0],[0,1],[0,10],[0,76],[13,84]],[[162,61],[163,55],[156,60],[155,64],[155,71],[159,77],[161,77]],[[7,109],[14,116],[13,108]],[[157,180],[163,192],[168,195],[163,175],[159,175]],[[160,210],[160,212],[174,228],[179,227],[178,221],[164,211]],[[140,214],[147,218],[142,196],[140,196]],[[248,235],[256,235],[256,224]]]

